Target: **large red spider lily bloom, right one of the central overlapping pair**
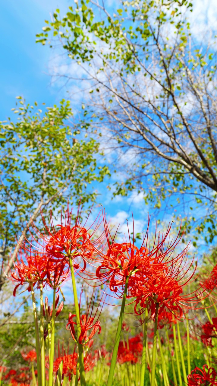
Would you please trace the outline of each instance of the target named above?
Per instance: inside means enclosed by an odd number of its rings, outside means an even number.
[[[163,239],[165,240],[164,236]],[[179,241],[180,239],[176,239],[173,243],[173,250]],[[194,259],[188,263],[186,255],[188,247],[174,257],[171,255],[171,244],[167,245],[166,249],[164,243],[158,241],[158,244],[160,248],[156,253],[155,261],[149,266],[149,273],[146,272],[146,275],[140,277],[131,289],[131,295],[136,297],[135,312],[140,315],[148,300],[148,309],[151,310],[152,316],[155,315],[158,304],[159,315],[171,312],[175,318],[180,319],[183,316],[183,307],[196,308],[204,292],[204,289],[200,287],[199,293],[198,291],[190,294],[183,293],[183,288],[190,283],[195,274],[197,264],[190,273]],[[137,305],[140,305],[140,310],[137,310]]]

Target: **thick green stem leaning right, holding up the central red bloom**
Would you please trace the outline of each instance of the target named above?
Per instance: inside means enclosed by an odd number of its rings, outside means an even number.
[[[113,382],[113,377],[114,377],[114,372],[115,372],[115,363],[116,363],[116,359],[117,359],[117,351],[118,351],[118,346],[119,346],[119,342],[120,342],[121,327],[122,327],[122,322],[123,322],[123,318],[124,318],[124,308],[125,308],[125,302],[126,302],[126,296],[127,296],[128,282],[129,282],[129,276],[126,277],[126,281],[125,281],[124,293],[123,293],[123,298],[122,298],[122,305],[120,308],[120,316],[119,316],[119,321],[118,321],[117,331],[116,331],[116,336],[115,336],[114,350],[112,352],[112,359],[111,359],[110,369],[109,369],[109,373],[108,373],[107,386],[112,386],[112,382]]]

